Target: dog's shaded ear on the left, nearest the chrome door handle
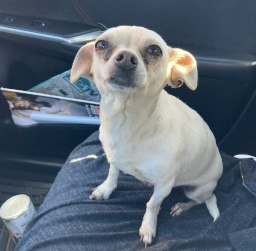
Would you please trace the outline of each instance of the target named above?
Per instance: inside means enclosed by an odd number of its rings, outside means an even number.
[[[81,76],[92,79],[92,63],[93,63],[93,49],[94,42],[87,43],[82,46],[76,54],[76,58],[73,62],[70,81],[74,83]]]

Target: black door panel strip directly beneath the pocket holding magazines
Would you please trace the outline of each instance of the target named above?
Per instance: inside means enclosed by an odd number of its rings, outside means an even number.
[[[20,127],[0,124],[0,152],[42,154],[67,157],[70,152],[99,126],[76,124],[36,124]],[[4,132],[4,133],[3,133]]]

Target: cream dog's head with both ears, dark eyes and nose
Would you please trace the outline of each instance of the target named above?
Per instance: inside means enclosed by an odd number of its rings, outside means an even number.
[[[171,48],[157,33],[137,26],[119,26],[87,43],[76,55],[71,81],[81,75],[93,79],[99,92],[144,91],[150,95],[168,84],[197,87],[195,58]]]

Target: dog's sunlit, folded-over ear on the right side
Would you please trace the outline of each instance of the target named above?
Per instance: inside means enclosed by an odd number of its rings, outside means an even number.
[[[189,52],[177,48],[170,48],[169,58],[167,84],[177,88],[185,83],[194,91],[198,82],[195,58]]]

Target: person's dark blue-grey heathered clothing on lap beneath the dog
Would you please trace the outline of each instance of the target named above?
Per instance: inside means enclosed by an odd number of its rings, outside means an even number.
[[[15,251],[145,250],[138,230],[152,188],[121,173],[110,199],[88,199],[108,174],[98,137],[94,133],[70,154]],[[239,159],[224,153],[222,159],[224,173],[215,190],[220,217],[213,223],[203,204],[173,218],[172,205],[188,200],[174,189],[163,201],[157,237],[147,250],[256,250],[256,162],[241,160],[239,168]]]

